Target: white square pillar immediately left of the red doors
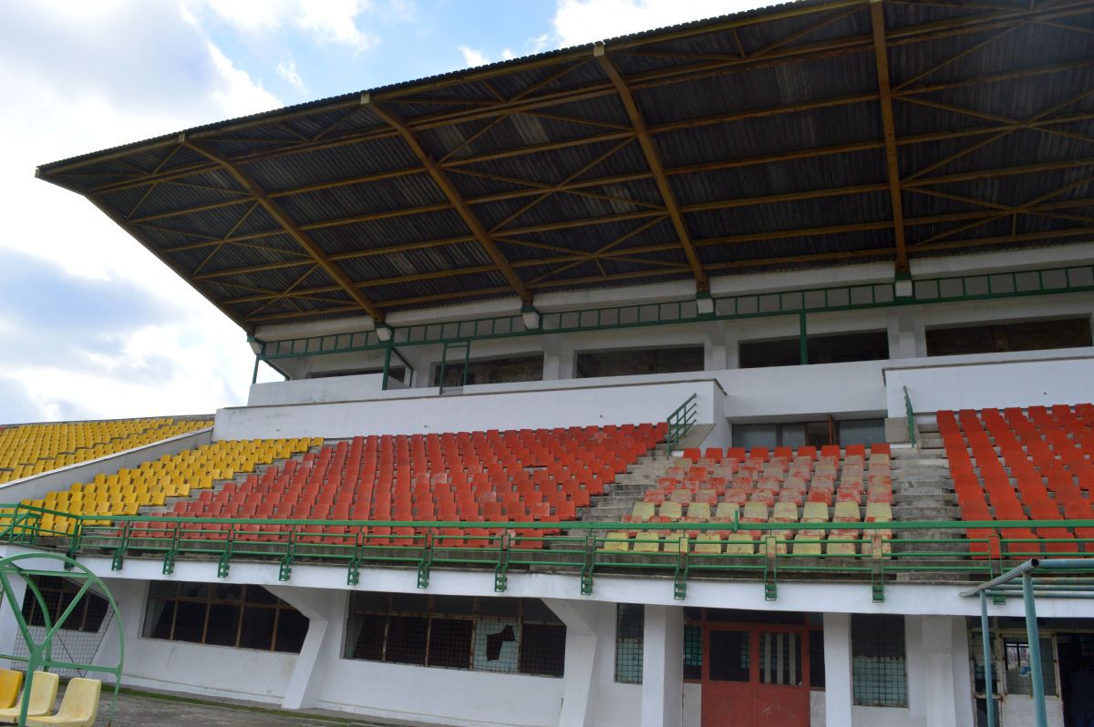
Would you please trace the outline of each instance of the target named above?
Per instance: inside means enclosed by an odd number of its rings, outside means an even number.
[[[642,727],[680,727],[684,707],[684,609],[645,607]]]

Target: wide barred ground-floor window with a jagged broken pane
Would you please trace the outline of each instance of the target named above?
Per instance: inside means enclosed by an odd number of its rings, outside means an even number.
[[[535,598],[350,594],[347,659],[561,677],[566,626]]]

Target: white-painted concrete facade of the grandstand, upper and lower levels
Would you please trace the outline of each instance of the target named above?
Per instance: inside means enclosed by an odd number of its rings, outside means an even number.
[[[1073,263],[1094,259],[1094,245],[1000,256],[963,256],[916,261],[915,275],[957,274],[970,270]],[[792,273],[764,273],[712,281],[715,295],[892,280],[886,266],[848,266]],[[536,303],[562,309],[633,301],[673,301],[694,295],[683,283],[554,293]],[[928,357],[931,328],[989,321],[1085,317],[1094,314],[1090,294],[1064,294],[876,308],[811,315],[810,335],[885,331],[889,357],[880,361],[741,368],[743,341],[789,339],[799,335],[798,317],[708,321],[573,335],[528,336],[476,342],[473,357],[528,352],[544,354],[540,382],[467,386],[440,394],[427,386],[440,347],[406,347],[415,368],[410,387],[383,390],[382,376],[305,378],[324,371],[374,368],[380,352],[337,354],[279,362],[294,380],[252,387],[247,407],[218,411],[213,439],[323,436],[341,438],[374,434],[426,434],[456,431],[633,424],[664,421],[690,396],[697,420],[712,424],[705,445],[731,444],[734,424],[903,417],[904,390],[917,412],[938,409],[1074,403],[1094,399],[1094,347],[1011,354]],[[432,312],[395,314],[391,325],[513,314],[512,301],[453,306]],[[259,331],[266,340],[361,330],[371,321],[328,321],[312,326],[277,326]],[[701,345],[705,370],[679,374],[575,378],[575,355],[583,351],[640,350]],[[208,437],[188,435],[191,437]],[[199,439],[195,439],[198,442]],[[176,446],[179,443],[165,444]],[[185,444],[185,443],[184,443]],[[194,446],[193,443],[186,446]],[[126,453],[127,456],[129,453]],[[151,450],[138,453],[148,458]],[[116,457],[121,457],[116,456]],[[129,459],[90,465],[7,485],[8,500],[40,496],[47,490],[90,479],[94,471],[132,466]],[[94,469],[97,467],[98,469]],[[109,469],[114,467],[115,469]],[[71,469],[71,468],[70,468]],[[60,479],[58,479],[60,478]],[[5,550],[16,549],[8,546]],[[163,579],[154,560],[127,560],[110,570],[108,558],[82,561],[103,577],[117,598],[126,636],[125,682],[170,691],[247,699],[289,708],[322,707],[381,718],[421,720],[461,727],[520,725],[535,727],[701,727],[701,685],[683,679],[683,607],[748,611],[795,611],[823,614],[826,687],[810,694],[812,725],[841,727],[971,727],[973,689],[966,619],[979,605],[962,598],[956,586],[898,583],[887,586],[882,603],[871,599],[869,584],[780,583],[778,599],[767,601],[758,583],[696,579],[684,602],[673,599],[663,578],[597,575],[593,594],[580,596],[573,574],[509,575],[502,597],[543,599],[567,626],[566,676],[560,679],[497,675],[455,669],[391,665],[344,658],[349,593],[373,590],[420,593],[410,568],[362,570],[357,587],[346,586],[339,567],[296,563],[288,583],[278,581],[276,563],[233,563],[218,579],[216,563],[181,560],[174,581],[240,583],[267,587],[309,619],[299,655],[144,638],[142,624],[148,583]],[[499,597],[488,571],[437,570],[427,593]],[[645,605],[643,683],[615,681],[617,603]],[[992,615],[1019,617],[1011,599],[990,606]],[[1094,618],[1089,601],[1046,599],[1045,619]],[[851,614],[905,615],[908,707],[853,704]],[[124,624],[124,625],[121,625]],[[0,642],[15,636],[10,619],[0,619]],[[114,658],[114,634],[98,655]],[[245,678],[243,677],[245,676]],[[428,692],[428,699],[423,697]],[[1059,705],[1060,701],[1056,700]],[[1005,727],[1027,724],[1017,714],[1022,700],[1010,700]],[[1057,706],[1059,714],[1059,707]],[[1054,723],[1059,724],[1059,723]]]

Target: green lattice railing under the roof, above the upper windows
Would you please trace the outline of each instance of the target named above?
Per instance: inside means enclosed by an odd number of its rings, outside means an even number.
[[[697,302],[687,300],[543,313],[538,328],[527,328],[521,315],[512,315],[393,327],[389,341],[382,340],[375,331],[358,331],[256,342],[260,344],[260,360],[276,361],[452,341],[1080,292],[1094,292],[1094,266],[922,279],[913,282],[913,294],[904,297],[896,295],[892,282],[837,285],[717,297],[713,298],[714,310],[710,314],[700,313]]]

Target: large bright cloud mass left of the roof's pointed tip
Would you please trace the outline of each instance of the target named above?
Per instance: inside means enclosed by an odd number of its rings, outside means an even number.
[[[88,303],[72,293],[83,290],[79,284],[66,289],[65,281],[133,289],[137,306],[159,312],[136,328],[107,315],[81,319],[80,335],[65,336],[31,323],[27,304],[0,290],[2,337],[21,354],[0,361],[0,390],[8,392],[0,396],[0,422],[241,403],[254,362],[243,332],[86,200],[36,180],[33,172],[37,164],[268,110],[280,99],[214,45],[185,8],[147,0],[0,3],[0,97],[7,223],[0,250],[62,269],[49,294],[69,297],[49,313],[53,320]]]

